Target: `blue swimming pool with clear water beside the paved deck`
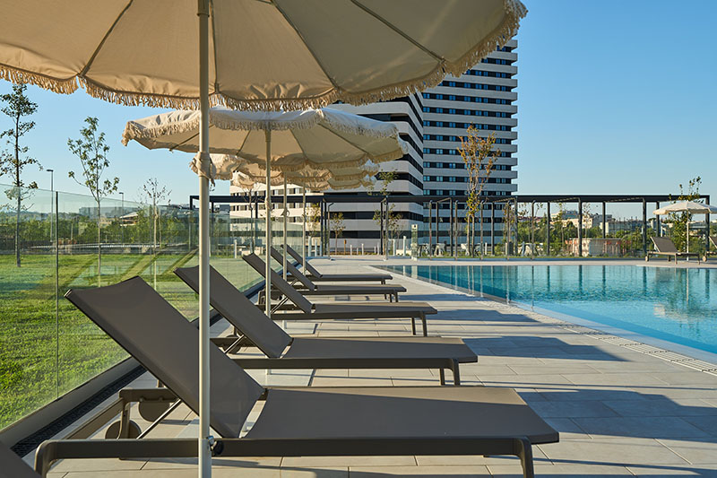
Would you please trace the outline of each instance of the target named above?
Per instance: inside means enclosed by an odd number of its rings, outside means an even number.
[[[639,265],[384,268],[717,353],[717,270]]]

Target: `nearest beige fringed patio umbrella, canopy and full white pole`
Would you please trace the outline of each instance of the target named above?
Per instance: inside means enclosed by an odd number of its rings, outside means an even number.
[[[0,78],[125,105],[198,108],[199,474],[209,436],[210,104],[390,100],[462,74],[518,30],[519,0],[0,0]],[[212,22],[210,22],[210,17]]]

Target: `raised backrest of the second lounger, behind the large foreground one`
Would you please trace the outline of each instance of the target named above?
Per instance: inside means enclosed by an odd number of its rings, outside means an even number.
[[[211,265],[209,271],[209,303],[212,307],[267,356],[281,357],[291,337]],[[175,269],[174,274],[199,292],[199,265]]]

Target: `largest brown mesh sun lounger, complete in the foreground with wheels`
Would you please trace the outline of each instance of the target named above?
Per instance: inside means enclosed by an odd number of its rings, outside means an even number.
[[[146,300],[154,297],[150,290],[137,277],[99,289],[68,291],[65,297],[165,384],[163,393],[174,394],[196,413],[197,330],[168,302]],[[511,388],[264,388],[218,348],[211,346],[209,352],[209,418],[220,435],[212,444],[212,455],[218,458],[514,455],[521,459],[523,476],[532,477],[531,445],[558,440],[557,431]],[[135,389],[134,399],[157,390],[162,389]],[[264,404],[254,426],[238,438],[259,400]],[[120,422],[128,423],[130,407],[123,410]],[[36,469],[45,474],[53,461],[67,455],[196,456],[196,443],[196,439],[77,440],[72,444],[77,453],[65,454],[68,447],[62,440],[50,441],[40,446]]]

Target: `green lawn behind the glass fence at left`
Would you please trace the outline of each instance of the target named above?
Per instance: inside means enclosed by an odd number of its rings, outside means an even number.
[[[196,265],[186,254],[102,256],[102,284],[140,275],[187,318],[197,315],[197,300],[172,274],[177,266]],[[212,256],[212,265],[240,289],[258,280],[241,259]],[[70,304],[70,288],[96,287],[97,256],[0,256],[0,429],[65,394],[126,357],[97,326]],[[56,314],[56,297],[59,297]]]

